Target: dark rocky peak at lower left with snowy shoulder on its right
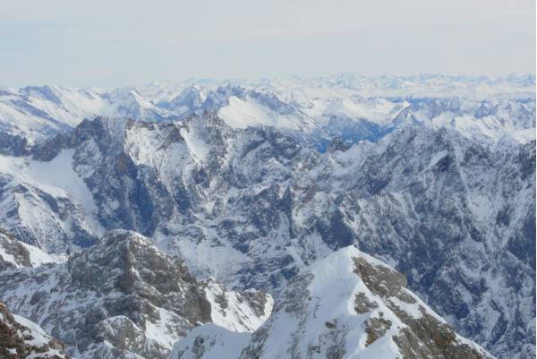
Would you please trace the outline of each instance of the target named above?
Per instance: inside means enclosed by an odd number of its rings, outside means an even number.
[[[271,310],[268,295],[200,283],[183,262],[126,231],[108,234],[65,264],[6,269],[0,283],[13,312],[88,359],[165,358],[199,323],[214,318],[230,329],[256,329]]]

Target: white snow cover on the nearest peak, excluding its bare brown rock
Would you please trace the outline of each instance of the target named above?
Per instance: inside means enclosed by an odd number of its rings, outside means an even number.
[[[291,282],[276,310],[258,331],[252,335],[239,335],[217,323],[203,325],[179,340],[170,359],[209,359],[226,357],[246,359],[255,353],[260,359],[326,358],[328,352],[337,350],[342,359],[400,358],[402,352],[394,337],[401,329],[408,328],[400,317],[388,307],[396,305],[413,318],[427,313],[440,323],[445,323],[417,296],[405,290],[413,303],[385,298],[371,292],[355,272],[356,259],[362,259],[374,268],[394,272],[370,255],[354,246],[345,247],[305,269],[299,280]],[[306,286],[307,290],[300,289]],[[365,297],[370,309],[356,312],[357,295]],[[363,301],[363,299],[362,299]],[[368,343],[366,323],[374,319],[390,321],[385,333]],[[484,357],[491,356],[480,346],[462,337],[456,337],[457,345],[471,346]]]

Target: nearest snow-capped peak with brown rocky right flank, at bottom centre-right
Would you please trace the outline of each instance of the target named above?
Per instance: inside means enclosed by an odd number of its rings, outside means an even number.
[[[171,359],[492,358],[405,286],[386,264],[346,247],[293,278],[253,334],[201,326]]]

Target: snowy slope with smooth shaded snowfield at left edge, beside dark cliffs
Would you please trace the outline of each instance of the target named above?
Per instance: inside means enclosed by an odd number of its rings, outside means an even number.
[[[72,150],[58,150],[49,162],[0,155],[3,226],[47,252],[65,252],[68,238],[94,244],[101,232],[97,208],[72,162]]]

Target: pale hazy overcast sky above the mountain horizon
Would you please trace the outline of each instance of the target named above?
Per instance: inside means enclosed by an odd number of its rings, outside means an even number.
[[[0,0],[0,86],[535,73],[535,0]]]

